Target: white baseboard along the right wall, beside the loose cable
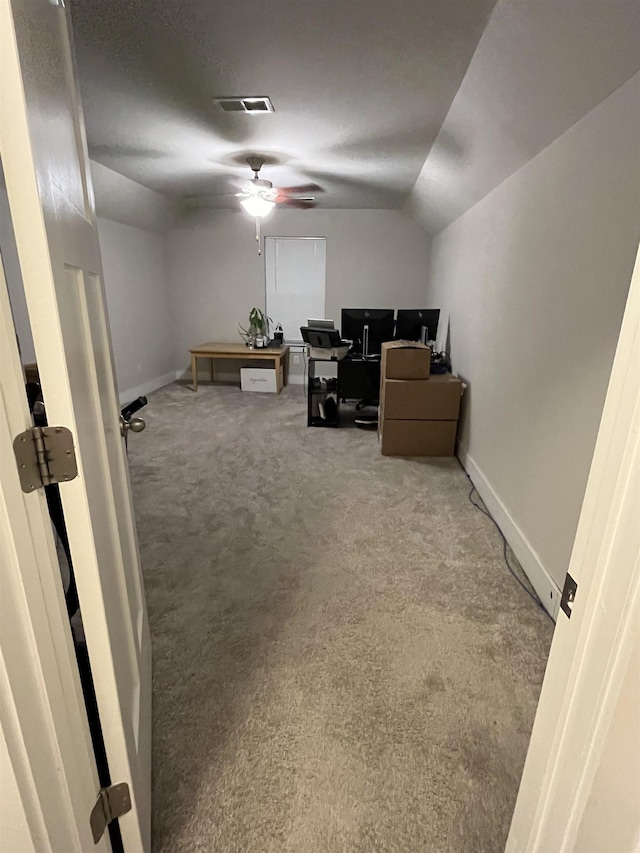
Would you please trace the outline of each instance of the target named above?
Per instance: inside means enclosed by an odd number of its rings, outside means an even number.
[[[462,467],[471,477],[471,482],[476,487],[476,490],[485,506],[493,516],[496,524],[505,536],[509,543],[509,547],[516,555],[516,558],[522,566],[524,573],[529,579],[531,585],[535,589],[538,598],[542,602],[544,609],[555,622],[558,618],[560,609],[561,591],[551,575],[542,565],[540,557],[535,549],[524,535],[522,530],[515,523],[508,509],[502,503],[493,487],[482,473],[480,468],[469,456],[466,448],[458,442],[458,459],[462,463]]]

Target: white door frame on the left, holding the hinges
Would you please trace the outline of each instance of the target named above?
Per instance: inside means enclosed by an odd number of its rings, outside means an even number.
[[[0,848],[109,853],[89,825],[100,784],[47,502],[13,455],[31,417],[1,263],[0,364]]]

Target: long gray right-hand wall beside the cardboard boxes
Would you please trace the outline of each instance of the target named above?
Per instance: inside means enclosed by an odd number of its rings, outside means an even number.
[[[460,442],[562,586],[640,232],[640,77],[442,231]]]

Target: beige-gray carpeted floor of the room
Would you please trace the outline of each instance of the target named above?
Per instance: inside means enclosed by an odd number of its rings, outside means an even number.
[[[454,459],[171,385],[129,447],[154,853],[498,853],[552,635]]]

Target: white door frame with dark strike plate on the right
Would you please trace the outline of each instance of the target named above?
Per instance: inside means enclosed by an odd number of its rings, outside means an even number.
[[[640,252],[569,564],[576,601],[558,615],[508,853],[574,850],[640,642],[639,518]]]

